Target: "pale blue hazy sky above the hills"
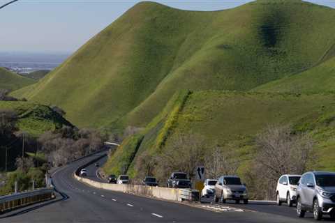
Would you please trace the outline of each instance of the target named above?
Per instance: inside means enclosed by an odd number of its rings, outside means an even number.
[[[0,0],[0,5],[10,0]],[[250,1],[250,0],[249,0]],[[248,0],[157,1],[187,10],[221,10]],[[335,8],[335,0],[310,0]],[[74,52],[139,1],[20,0],[0,9],[1,52]]]

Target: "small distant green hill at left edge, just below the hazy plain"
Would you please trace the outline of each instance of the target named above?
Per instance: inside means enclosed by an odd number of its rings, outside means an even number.
[[[34,83],[36,83],[34,79],[21,77],[6,68],[0,68],[0,89],[13,91]]]

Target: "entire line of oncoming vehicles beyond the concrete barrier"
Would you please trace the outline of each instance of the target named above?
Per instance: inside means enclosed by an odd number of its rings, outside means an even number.
[[[87,176],[87,170],[80,171]],[[110,175],[109,183],[129,183],[127,175]],[[158,186],[153,176],[146,176],[142,185]],[[166,183],[172,188],[191,188],[191,179],[184,172],[173,172]],[[228,200],[244,204],[248,203],[246,185],[238,176],[221,176],[218,179],[207,179],[201,191],[202,197],[213,197],[215,202],[226,203]],[[285,174],[278,179],[276,186],[276,203],[281,206],[287,203],[292,207],[296,204],[297,216],[304,217],[305,213],[313,213],[315,220],[321,220],[323,215],[329,215],[335,220],[335,172],[309,171],[301,175]]]

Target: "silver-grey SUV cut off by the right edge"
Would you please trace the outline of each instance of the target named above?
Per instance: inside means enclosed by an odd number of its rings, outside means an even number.
[[[312,211],[315,220],[322,215],[335,219],[335,173],[313,171],[303,174],[297,187],[297,215]]]

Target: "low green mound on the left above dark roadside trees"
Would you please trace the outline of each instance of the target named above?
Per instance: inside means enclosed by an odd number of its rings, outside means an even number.
[[[45,105],[30,102],[0,101],[0,109],[15,111],[18,115],[17,128],[28,132],[32,136],[62,128],[63,125],[73,126],[65,118]]]

